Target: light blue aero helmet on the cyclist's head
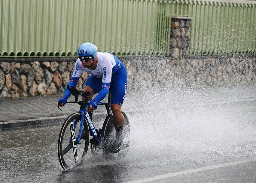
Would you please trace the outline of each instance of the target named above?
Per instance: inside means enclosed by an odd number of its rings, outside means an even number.
[[[93,43],[83,43],[78,47],[77,54],[80,57],[88,57],[90,55],[93,56],[93,60],[97,56],[97,46],[95,46]]]

